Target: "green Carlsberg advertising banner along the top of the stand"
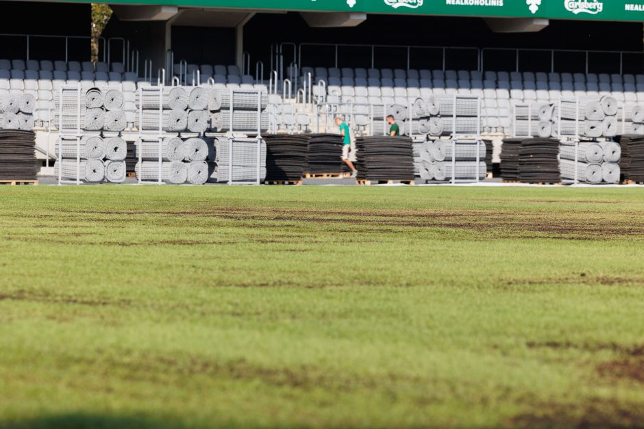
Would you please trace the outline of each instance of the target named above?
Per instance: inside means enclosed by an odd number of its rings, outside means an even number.
[[[108,3],[237,10],[644,21],[644,0],[110,0]]]

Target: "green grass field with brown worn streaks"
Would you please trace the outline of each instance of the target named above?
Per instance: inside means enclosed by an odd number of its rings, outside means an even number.
[[[0,428],[644,426],[644,192],[0,187]]]

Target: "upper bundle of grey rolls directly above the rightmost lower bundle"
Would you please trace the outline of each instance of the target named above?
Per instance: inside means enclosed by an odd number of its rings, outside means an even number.
[[[560,130],[562,135],[580,135],[586,138],[614,137],[617,135],[617,100],[604,95],[600,99],[580,97],[560,102]]]

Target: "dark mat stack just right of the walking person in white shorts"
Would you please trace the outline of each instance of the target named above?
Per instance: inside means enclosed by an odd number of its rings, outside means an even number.
[[[414,180],[414,154],[411,138],[374,136],[356,140],[358,179]]]

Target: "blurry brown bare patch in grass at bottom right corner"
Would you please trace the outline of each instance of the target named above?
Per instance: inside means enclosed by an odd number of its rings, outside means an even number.
[[[519,428],[644,428],[644,407],[633,402],[593,398],[584,404],[539,404],[508,419]]]

